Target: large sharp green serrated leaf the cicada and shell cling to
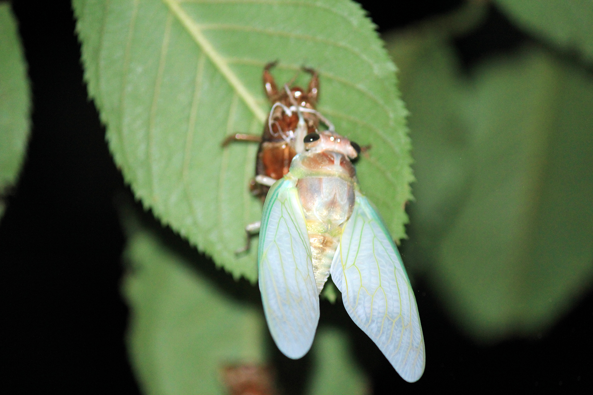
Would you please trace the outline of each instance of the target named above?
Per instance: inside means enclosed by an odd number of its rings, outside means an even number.
[[[269,104],[262,68],[277,81],[302,65],[320,72],[319,110],[339,133],[371,144],[362,190],[395,239],[412,180],[406,110],[394,65],[364,11],[347,0],[74,1],[85,79],[117,165],[145,207],[235,277],[257,278],[256,248],[235,256],[262,205],[248,191]],[[304,84],[301,75],[297,82]],[[257,243],[252,243],[256,246]]]

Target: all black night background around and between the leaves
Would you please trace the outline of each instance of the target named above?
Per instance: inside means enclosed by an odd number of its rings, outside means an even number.
[[[416,1],[404,11],[397,2],[391,8],[363,3],[380,31],[461,4]],[[114,195],[127,187],[87,99],[71,6],[68,1],[12,5],[28,62],[33,128],[20,181],[0,223],[5,388],[138,394],[124,344],[128,311],[119,286],[125,239],[113,204]],[[455,46],[469,70],[477,60],[531,39],[491,8],[486,23]],[[367,355],[375,394],[593,390],[593,293],[541,339],[480,346],[449,321],[428,287],[416,285],[427,344],[425,374],[416,384],[404,383],[372,343],[357,342],[357,354]],[[322,310],[328,309],[323,303]],[[280,375],[289,368],[280,366]]]

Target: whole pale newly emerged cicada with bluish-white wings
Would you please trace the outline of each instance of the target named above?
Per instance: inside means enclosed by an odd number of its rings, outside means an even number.
[[[385,224],[359,188],[358,150],[333,131],[310,133],[263,207],[259,288],[267,325],[284,355],[311,348],[327,278],[352,318],[409,382],[425,347],[416,299]]]

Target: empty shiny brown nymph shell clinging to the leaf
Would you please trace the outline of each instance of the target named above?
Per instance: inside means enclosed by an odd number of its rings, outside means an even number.
[[[288,173],[292,158],[305,149],[304,137],[309,133],[317,133],[320,122],[330,131],[334,131],[333,124],[315,110],[319,94],[317,72],[314,69],[303,68],[311,74],[306,91],[299,86],[291,87],[292,82],[278,89],[270,73],[270,69],[276,63],[268,63],[263,69],[263,88],[272,108],[262,136],[237,133],[228,136],[222,142],[223,147],[237,141],[259,143],[256,176],[250,182],[250,190],[254,196],[262,200],[262,203],[266,200],[267,191],[272,184]],[[247,245],[237,251],[238,253],[249,249],[250,237],[259,232],[259,227],[259,221],[247,225]]]

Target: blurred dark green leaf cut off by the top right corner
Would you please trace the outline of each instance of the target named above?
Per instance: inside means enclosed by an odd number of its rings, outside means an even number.
[[[500,8],[536,36],[559,47],[578,50],[593,61],[591,0],[496,0]]]

